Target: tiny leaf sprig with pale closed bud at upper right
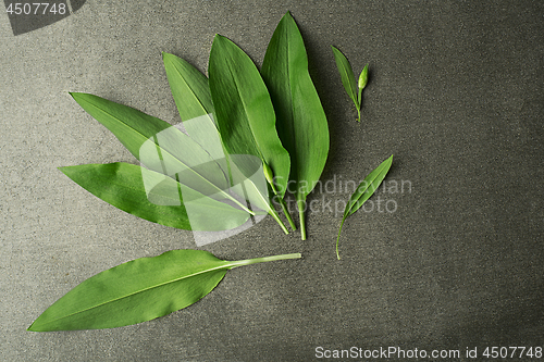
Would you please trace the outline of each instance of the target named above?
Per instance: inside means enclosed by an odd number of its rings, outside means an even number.
[[[357,122],[361,122],[361,107],[362,107],[362,89],[367,86],[369,79],[369,65],[364,65],[359,75],[359,80],[355,82],[354,70],[347,58],[336,48],[331,46],[336,61],[336,66],[341,74],[342,84],[346,89],[347,95],[354,101],[357,109]]]

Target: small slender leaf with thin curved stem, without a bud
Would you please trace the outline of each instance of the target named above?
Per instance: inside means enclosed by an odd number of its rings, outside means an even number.
[[[372,171],[362,183],[359,184],[354,195],[349,198],[346,209],[344,210],[344,215],[342,217],[341,227],[338,229],[338,237],[336,238],[336,257],[339,260],[338,254],[338,240],[342,233],[342,226],[346,217],[351,215],[354,212],[359,210],[360,207],[374,194],[374,191],[380,187],[380,184],[390,172],[391,165],[393,164],[393,154],[385,161],[383,161],[374,171]]]

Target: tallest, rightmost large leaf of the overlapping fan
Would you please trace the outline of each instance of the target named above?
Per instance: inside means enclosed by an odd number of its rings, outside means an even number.
[[[308,72],[302,36],[288,12],[270,40],[261,74],[276,112],[277,134],[290,155],[289,178],[296,187],[304,240],[306,197],[323,172],[329,154],[329,128]]]

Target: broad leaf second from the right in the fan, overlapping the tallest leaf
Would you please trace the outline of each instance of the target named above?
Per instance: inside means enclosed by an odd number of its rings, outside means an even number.
[[[274,108],[256,65],[231,40],[217,35],[208,73],[215,122],[227,152],[261,159],[272,168],[277,187],[285,192],[289,154],[277,136]]]

